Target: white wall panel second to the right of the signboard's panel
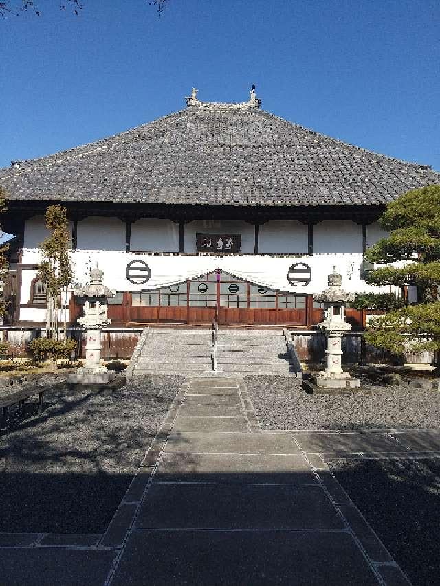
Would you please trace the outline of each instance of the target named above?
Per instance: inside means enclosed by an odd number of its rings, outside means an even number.
[[[325,220],[314,225],[314,254],[362,254],[362,226],[349,220]]]

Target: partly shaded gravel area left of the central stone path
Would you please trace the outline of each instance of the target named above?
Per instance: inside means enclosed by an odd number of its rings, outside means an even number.
[[[29,403],[0,431],[0,532],[104,532],[182,381],[61,382],[41,415]]]

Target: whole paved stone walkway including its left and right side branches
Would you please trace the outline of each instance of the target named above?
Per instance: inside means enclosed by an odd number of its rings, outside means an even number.
[[[261,431],[242,381],[192,379],[107,532],[0,534],[0,583],[408,585],[325,460],[426,455],[439,430]]]

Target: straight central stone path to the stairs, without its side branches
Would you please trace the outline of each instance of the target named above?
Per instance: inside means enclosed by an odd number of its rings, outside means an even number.
[[[261,432],[243,383],[194,379],[179,403],[111,586],[408,584],[322,459]]]

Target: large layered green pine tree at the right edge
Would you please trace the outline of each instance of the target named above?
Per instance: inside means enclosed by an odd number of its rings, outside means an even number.
[[[416,286],[417,304],[377,317],[365,332],[368,343],[396,354],[434,352],[440,360],[440,185],[412,190],[388,204],[380,224],[390,232],[365,253],[389,264],[371,271],[370,284]]]

